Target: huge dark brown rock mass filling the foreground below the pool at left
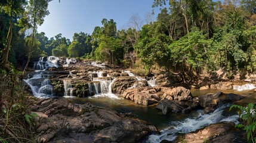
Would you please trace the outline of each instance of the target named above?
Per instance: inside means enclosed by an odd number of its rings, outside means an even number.
[[[32,100],[37,142],[136,142],[155,126],[90,103],[64,98]]]

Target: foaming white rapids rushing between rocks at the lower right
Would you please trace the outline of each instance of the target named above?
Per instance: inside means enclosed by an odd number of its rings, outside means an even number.
[[[161,142],[164,139],[168,141],[173,141],[177,137],[177,133],[189,133],[197,129],[208,126],[212,123],[218,123],[223,121],[235,122],[238,123],[238,115],[223,116],[224,108],[228,106],[217,108],[214,113],[203,114],[203,110],[198,110],[197,115],[195,114],[193,118],[188,118],[183,121],[171,122],[170,126],[161,130],[160,135],[150,135],[145,143],[155,143]]]

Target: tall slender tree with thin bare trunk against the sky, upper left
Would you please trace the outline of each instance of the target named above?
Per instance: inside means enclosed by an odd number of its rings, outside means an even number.
[[[33,53],[33,50],[35,47],[34,45],[34,39],[35,39],[35,33],[36,29],[39,26],[44,23],[44,17],[49,14],[48,8],[48,1],[47,0],[30,0],[29,5],[27,6],[27,16],[29,17],[29,24],[32,26],[32,33],[31,33],[31,43],[29,45],[29,52],[28,52],[28,58],[26,66],[24,67],[23,74],[25,73],[27,66],[29,65],[29,61],[31,58],[31,54]]]

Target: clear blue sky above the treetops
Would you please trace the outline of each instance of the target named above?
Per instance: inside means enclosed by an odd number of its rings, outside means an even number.
[[[95,26],[102,26],[103,18],[113,19],[118,29],[127,28],[132,14],[144,18],[152,13],[152,4],[153,0],[53,0],[38,32],[45,32],[48,38],[61,33],[72,41],[75,32],[91,34]],[[154,12],[156,17],[159,8]]]

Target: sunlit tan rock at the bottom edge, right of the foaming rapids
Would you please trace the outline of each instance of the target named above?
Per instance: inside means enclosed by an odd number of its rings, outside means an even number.
[[[196,130],[192,133],[187,133],[184,136],[184,141],[186,142],[205,142],[210,138],[220,135],[221,133],[226,133],[232,130],[235,126],[233,122],[220,122],[216,124],[211,124],[205,128]],[[222,141],[221,141],[222,142]]]

